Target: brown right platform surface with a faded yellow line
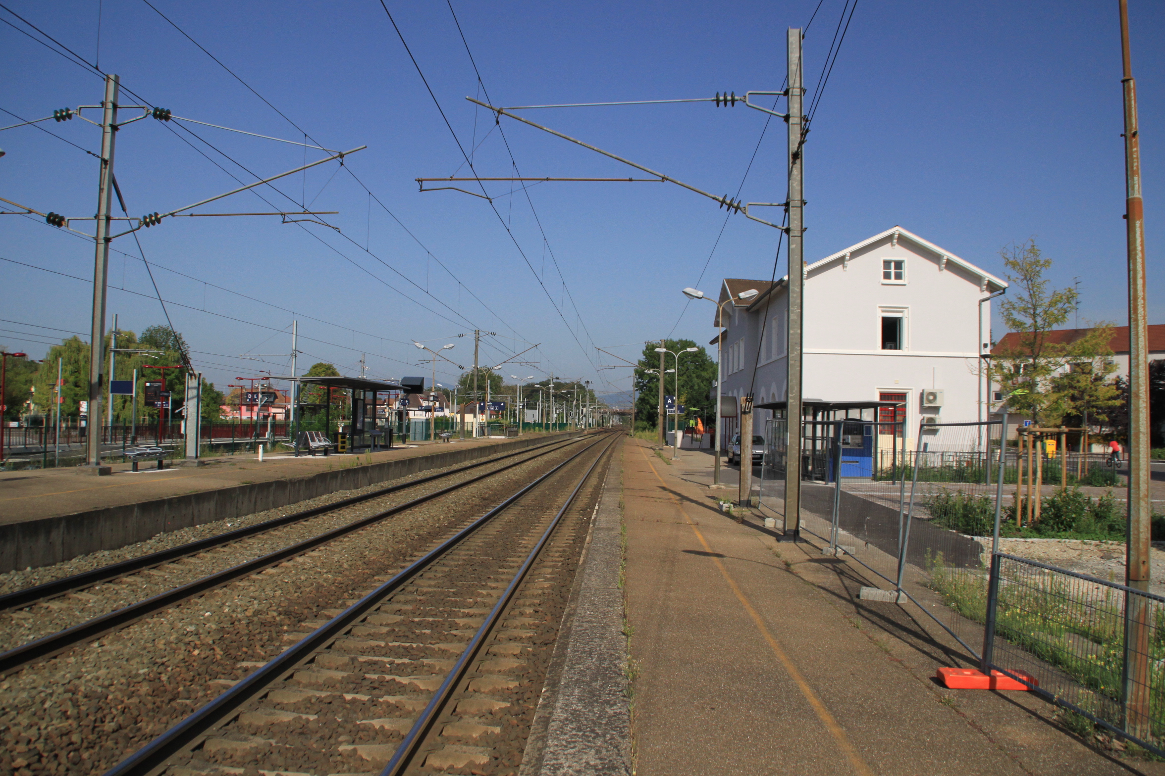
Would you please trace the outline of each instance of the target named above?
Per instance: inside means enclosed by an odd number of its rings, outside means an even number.
[[[640,776],[1163,774],[1060,727],[1024,692],[948,690],[937,626],[760,515],[715,506],[711,456],[623,448],[631,741]]]

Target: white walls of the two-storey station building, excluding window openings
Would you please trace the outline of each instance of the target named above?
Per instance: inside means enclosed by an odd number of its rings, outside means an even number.
[[[905,283],[882,282],[882,259],[905,262]],[[854,250],[848,261],[838,257],[809,270],[805,280],[804,397],[835,401],[877,400],[881,392],[906,393],[908,436],[917,426],[920,394],[925,389],[944,391],[944,407],[926,410],[944,422],[977,420],[979,343],[988,342],[990,302],[983,304],[983,330],[979,330],[979,300],[995,289],[981,291],[981,277],[954,261],[899,236],[885,237]],[[784,344],[774,343],[772,357],[760,342],[761,322],[769,326],[784,318],[785,289],[757,309],[740,309],[730,320],[725,344],[726,368],[735,366],[729,347],[743,342],[743,369],[725,376],[725,393],[741,397],[754,386],[761,404],[785,398]],[[881,349],[883,308],[905,316],[904,349]],[[889,311],[885,311],[889,312]],[[782,335],[784,332],[781,330]],[[980,339],[982,337],[982,339]],[[753,377],[756,348],[762,346],[761,366]],[[726,369],[727,371],[727,369]],[[983,399],[988,398],[984,383]],[[986,410],[983,419],[987,419]]]

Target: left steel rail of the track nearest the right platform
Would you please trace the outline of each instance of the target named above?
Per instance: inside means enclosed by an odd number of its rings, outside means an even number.
[[[497,514],[514,504],[514,501],[532,491],[580,455],[599,444],[600,441],[601,440],[595,440],[563,463],[535,479],[532,483],[518,489],[517,492],[506,498],[501,504],[489,510],[466,527],[461,528],[453,536],[442,542],[438,547],[412,562],[408,568],[400,571],[391,579],[369,592],[355,604],[348,606],[306,638],[283,650],[280,655],[273,657],[266,665],[256,669],[230,690],[218,696],[193,714],[182,720],[165,733],[132,754],[129,757],[122,760],[120,763],[107,770],[105,776],[147,776],[148,774],[160,773],[165,767],[167,760],[176,754],[179,754],[183,749],[197,743],[205,733],[210,732],[217,725],[228,721],[234,712],[239,711],[243,704],[266,692],[267,689],[275,682],[289,676],[302,663],[310,660],[317,650],[325,647],[330,641],[334,640],[339,635],[343,635],[343,632],[348,626],[359,620],[359,618],[366,614],[369,610],[377,606],[384,598],[409,583],[421,571],[424,571],[435,561],[443,557],[449,550],[460,544],[467,536],[472,535],[480,527],[492,521]]]

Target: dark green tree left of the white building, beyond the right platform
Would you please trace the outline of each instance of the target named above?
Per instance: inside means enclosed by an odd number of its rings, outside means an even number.
[[[658,428],[659,422],[659,354],[658,341],[643,346],[643,355],[635,368],[635,420]],[[716,379],[716,363],[708,357],[707,350],[698,347],[692,340],[665,340],[662,346],[672,353],[687,348],[698,348],[696,353],[685,353],[679,357],[679,394],[678,404],[687,408],[689,417],[699,415],[707,421],[715,418],[716,405],[709,397],[712,384]],[[675,369],[676,359],[671,354],[664,354],[665,369]],[[675,373],[664,375],[664,393],[675,392]]]

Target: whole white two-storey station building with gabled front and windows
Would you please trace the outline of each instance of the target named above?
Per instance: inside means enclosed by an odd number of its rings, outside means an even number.
[[[1004,280],[902,227],[806,264],[803,273],[806,400],[899,404],[880,419],[905,421],[906,444],[923,415],[935,422],[987,419],[989,389],[980,368],[991,341],[986,299],[1007,289]],[[719,301],[749,289],[758,294],[725,305],[725,320],[714,322],[725,329],[723,393],[739,399],[751,392],[755,405],[784,401],[788,277],[726,279]],[[941,392],[939,400],[924,406],[924,391]],[[758,412],[762,433],[771,411]],[[733,422],[725,426],[733,432]]]

